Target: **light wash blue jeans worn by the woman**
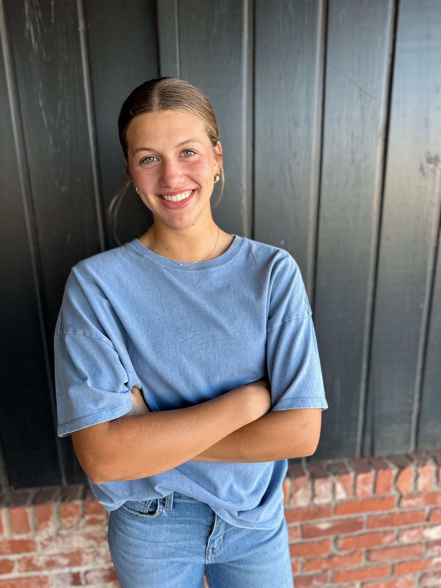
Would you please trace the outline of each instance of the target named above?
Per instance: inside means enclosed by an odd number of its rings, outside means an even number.
[[[108,541],[122,588],[293,588],[285,517],[245,529],[172,492],[112,510]]]

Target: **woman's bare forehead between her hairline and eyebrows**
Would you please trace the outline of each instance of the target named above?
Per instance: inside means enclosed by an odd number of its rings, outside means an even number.
[[[174,146],[186,139],[208,142],[202,121],[186,112],[145,112],[129,123],[126,138],[133,149],[139,141]]]

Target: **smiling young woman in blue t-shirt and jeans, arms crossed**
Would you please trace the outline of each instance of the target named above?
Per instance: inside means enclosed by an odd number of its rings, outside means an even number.
[[[153,225],[69,275],[58,435],[110,512],[122,588],[201,588],[204,573],[211,588],[292,587],[286,458],[315,451],[328,406],[300,270],[213,221],[222,146],[199,89],[145,82],[118,124]]]

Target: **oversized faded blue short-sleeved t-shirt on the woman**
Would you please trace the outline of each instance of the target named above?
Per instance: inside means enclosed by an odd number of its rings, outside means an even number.
[[[283,249],[239,235],[222,255],[177,263],[138,239],[77,263],[55,332],[58,435],[131,410],[197,405],[268,374],[272,410],[328,407],[300,270]],[[181,492],[226,522],[272,529],[283,517],[286,459],[188,460],[154,476],[96,485],[112,511]]]

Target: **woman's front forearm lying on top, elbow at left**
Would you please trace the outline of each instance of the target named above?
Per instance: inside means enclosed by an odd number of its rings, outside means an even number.
[[[89,453],[85,450],[95,479],[88,475],[95,483],[105,483],[166,472],[258,416],[239,388],[199,405],[100,423],[105,426],[96,429],[98,449],[92,451],[90,439]]]

